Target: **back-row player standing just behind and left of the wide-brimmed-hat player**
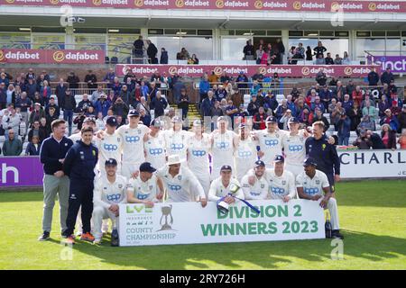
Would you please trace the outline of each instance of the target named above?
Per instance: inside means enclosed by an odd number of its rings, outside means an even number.
[[[152,120],[150,125],[151,131],[146,135],[143,143],[145,160],[157,168],[166,165],[166,145],[161,125],[162,122],[158,119]]]

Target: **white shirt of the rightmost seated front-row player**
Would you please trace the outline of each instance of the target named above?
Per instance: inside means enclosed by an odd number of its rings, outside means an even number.
[[[304,171],[296,177],[296,187],[303,187],[303,192],[309,196],[323,196],[323,188],[329,186],[327,175],[319,170],[316,170],[316,174],[313,178],[310,178]]]

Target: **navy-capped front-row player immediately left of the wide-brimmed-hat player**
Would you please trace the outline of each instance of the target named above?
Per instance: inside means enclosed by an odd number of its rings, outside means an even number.
[[[141,164],[139,171],[139,175],[131,178],[127,185],[127,202],[153,207],[153,203],[163,197],[162,181],[153,174],[156,169],[149,162]]]

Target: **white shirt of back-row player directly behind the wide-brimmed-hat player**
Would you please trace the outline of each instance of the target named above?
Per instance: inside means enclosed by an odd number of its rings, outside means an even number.
[[[187,130],[162,131],[165,138],[167,156],[179,155],[180,160],[186,160],[190,132]]]

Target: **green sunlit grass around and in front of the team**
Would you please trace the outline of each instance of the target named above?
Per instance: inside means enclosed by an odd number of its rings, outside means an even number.
[[[344,259],[329,239],[161,247],[77,241],[63,260],[58,210],[51,240],[38,242],[42,193],[0,193],[0,269],[406,269],[406,184],[337,184]],[[56,205],[57,207],[57,205]]]

